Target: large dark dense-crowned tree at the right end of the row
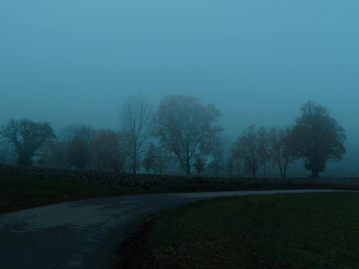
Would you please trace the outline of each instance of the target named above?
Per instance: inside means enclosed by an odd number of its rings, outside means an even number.
[[[312,172],[312,177],[319,177],[327,162],[340,162],[345,153],[345,130],[330,112],[320,104],[307,101],[291,131],[294,155],[303,158],[304,168]]]

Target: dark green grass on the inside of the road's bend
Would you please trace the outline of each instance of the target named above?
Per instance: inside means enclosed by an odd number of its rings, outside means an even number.
[[[204,200],[150,238],[155,268],[359,268],[359,193]]]

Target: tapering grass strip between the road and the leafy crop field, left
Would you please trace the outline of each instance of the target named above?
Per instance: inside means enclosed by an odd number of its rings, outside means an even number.
[[[144,192],[141,187],[115,187],[79,181],[0,176],[0,214],[57,202]]]

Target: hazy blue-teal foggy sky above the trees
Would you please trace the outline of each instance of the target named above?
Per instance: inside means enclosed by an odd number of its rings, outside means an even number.
[[[236,138],[308,100],[359,136],[359,1],[1,0],[0,123],[119,127],[142,93],[196,95]]]

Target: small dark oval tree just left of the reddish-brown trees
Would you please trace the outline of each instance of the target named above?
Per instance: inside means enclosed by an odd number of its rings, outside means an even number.
[[[77,169],[81,170],[86,168],[86,151],[87,147],[84,140],[78,135],[75,135],[67,149],[70,165],[75,165]]]

